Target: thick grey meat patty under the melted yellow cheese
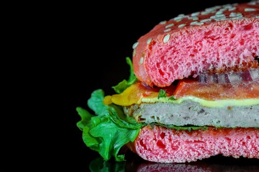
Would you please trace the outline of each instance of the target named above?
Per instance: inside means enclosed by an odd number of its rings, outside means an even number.
[[[173,103],[142,103],[124,107],[126,115],[139,122],[171,124],[177,126],[259,127],[259,105],[224,108],[202,107],[199,103],[185,101]]]

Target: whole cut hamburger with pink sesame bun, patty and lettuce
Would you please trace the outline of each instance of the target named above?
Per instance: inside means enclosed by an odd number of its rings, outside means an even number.
[[[109,160],[259,158],[259,1],[160,22],[133,45],[130,77],[77,108],[83,141]]]

